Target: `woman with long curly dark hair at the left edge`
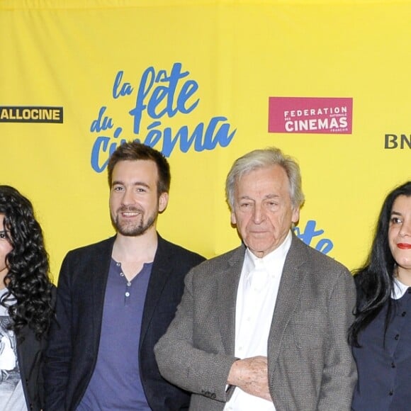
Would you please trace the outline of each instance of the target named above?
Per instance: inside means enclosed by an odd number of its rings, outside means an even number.
[[[54,316],[43,232],[33,205],[0,186],[0,409],[40,410],[43,349]]]

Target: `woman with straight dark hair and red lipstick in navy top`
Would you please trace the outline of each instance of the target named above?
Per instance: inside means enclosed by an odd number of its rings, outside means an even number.
[[[385,198],[365,266],[354,273],[352,410],[411,410],[411,181]]]

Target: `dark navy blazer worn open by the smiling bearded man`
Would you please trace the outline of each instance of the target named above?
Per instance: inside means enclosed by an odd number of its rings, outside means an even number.
[[[75,249],[64,258],[57,287],[57,321],[50,329],[45,356],[45,410],[75,410],[89,385],[96,366],[115,239]],[[203,260],[158,236],[138,353],[142,386],[154,411],[188,408],[189,394],[160,376],[153,348],[174,318],[184,277]]]

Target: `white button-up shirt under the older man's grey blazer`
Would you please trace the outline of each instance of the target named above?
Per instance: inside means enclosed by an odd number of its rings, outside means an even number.
[[[270,254],[258,258],[246,249],[235,305],[235,356],[240,359],[267,356],[271,321],[276,305],[281,273],[292,235]],[[235,391],[225,411],[275,411],[273,402]]]

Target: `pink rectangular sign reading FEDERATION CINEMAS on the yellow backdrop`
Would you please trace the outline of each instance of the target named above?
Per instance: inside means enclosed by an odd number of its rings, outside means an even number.
[[[351,134],[352,98],[270,97],[269,133]]]

